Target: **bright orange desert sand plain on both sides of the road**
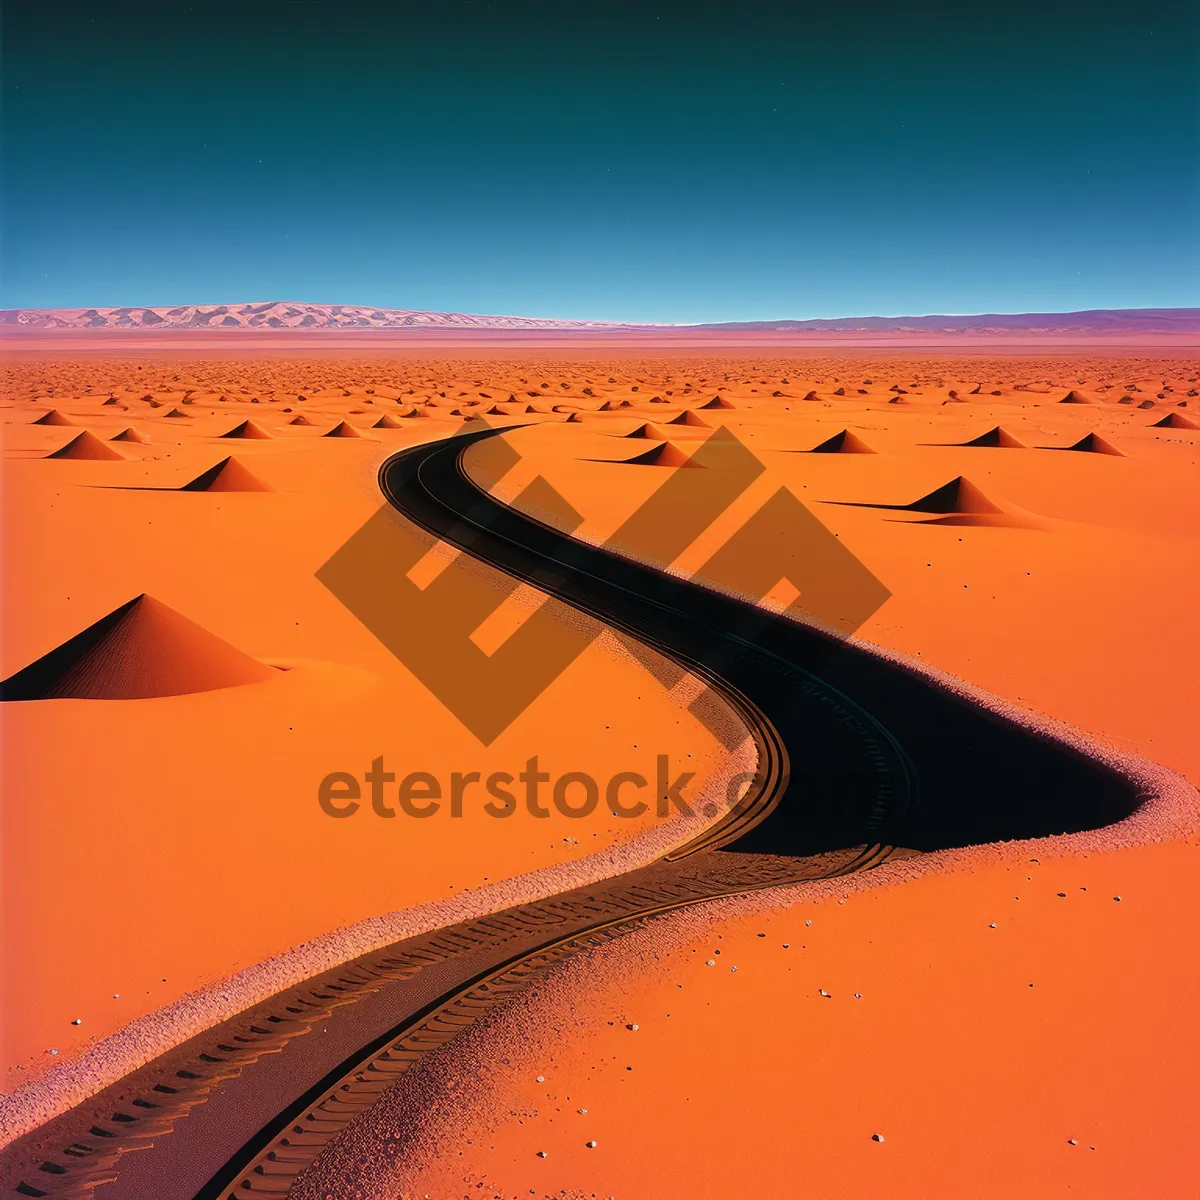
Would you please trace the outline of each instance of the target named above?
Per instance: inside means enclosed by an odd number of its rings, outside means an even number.
[[[1200,1194],[1200,360],[228,346],[37,343],[4,367],[0,677],[150,598],[76,698],[2,707],[6,1141],[324,967],[689,833],[472,803],[330,820],[328,773],[653,775],[665,754],[702,790],[736,768],[612,637],[484,746],[318,581],[384,458],[482,415],[518,426],[493,494],[540,475],[592,541],[727,428],[766,470],[659,565],[696,571],[786,487],[890,593],[857,637],[1175,775],[1117,826],[720,900],[575,955],[292,1194]],[[932,517],[886,508],[959,479]]]

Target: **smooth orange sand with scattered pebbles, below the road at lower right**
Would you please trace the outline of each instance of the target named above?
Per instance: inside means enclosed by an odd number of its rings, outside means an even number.
[[[428,1063],[299,1200],[1195,1195],[1198,850],[656,922]]]

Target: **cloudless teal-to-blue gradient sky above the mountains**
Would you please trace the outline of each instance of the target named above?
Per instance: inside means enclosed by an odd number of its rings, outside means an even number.
[[[2,12],[2,307],[1200,304],[1195,0]]]

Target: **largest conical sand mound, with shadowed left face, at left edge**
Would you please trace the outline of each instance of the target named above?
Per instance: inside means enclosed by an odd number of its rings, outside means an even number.
[[[274,677],[274,667],[140,595],[0,683],[0,700],[145,700]]]

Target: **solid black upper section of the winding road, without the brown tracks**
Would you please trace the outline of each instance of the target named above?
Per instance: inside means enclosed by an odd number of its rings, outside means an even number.
[[[1134,785],[844,638],[575,541],[484,494],[458,463],[494,431],[389,460],[389,502],[438,538],[670,647],[749,696],[791,760],[782,802],[725,848],[804,856],[872,842],[940,850],[1098,828]]]

